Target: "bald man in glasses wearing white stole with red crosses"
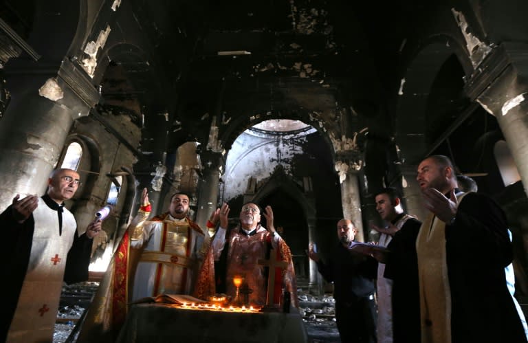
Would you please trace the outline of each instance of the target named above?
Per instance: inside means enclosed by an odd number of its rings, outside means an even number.
[[[89,259],[91,241],[101,230],[101,222],[94,221],[78,235],[64,201],[79,186],[75,170],[54,170],[43,197],[16,195],[0,214],[6,243],[1,261],[10,278],[3,292],[1,342],[52,342],[68,252],[78,249]]]

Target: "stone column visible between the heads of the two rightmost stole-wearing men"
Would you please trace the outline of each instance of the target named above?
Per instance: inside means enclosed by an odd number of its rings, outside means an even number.
[[[401,188],[404,190],[402,202],[407,214],[417,217],[420,221],[426,219],[427,209],[423,207],[423,199],[418,182],[416,181],[416,170],[418,166],[404,165],[401,170]]]

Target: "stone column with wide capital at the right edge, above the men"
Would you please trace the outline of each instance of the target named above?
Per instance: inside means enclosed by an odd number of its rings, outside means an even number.
[[[478,66],[465,91],[497,118],[528,195],[527,78],[528,45],[501,43]]]

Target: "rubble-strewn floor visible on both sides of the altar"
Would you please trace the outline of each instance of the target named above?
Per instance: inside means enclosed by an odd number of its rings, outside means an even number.
[[[65,286],[61,297],[54,343],[75,343],[76,322],[95,293],[98,283],[78,283]],[[331,296],[314,297],[299,291],[299,311],[308,335],[307,343],[339,343],[338,329]],[[73,333],[72,333],[73,332]]]

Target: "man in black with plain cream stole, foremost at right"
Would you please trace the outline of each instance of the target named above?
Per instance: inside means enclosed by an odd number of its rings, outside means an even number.
[[[421,341],[527,342],[506,285],[513,249],[503,210],[459,192],[443,155],[423,159],[417,181],[430,211],[416,242]]]

